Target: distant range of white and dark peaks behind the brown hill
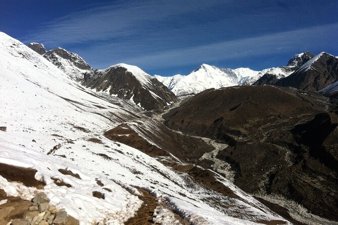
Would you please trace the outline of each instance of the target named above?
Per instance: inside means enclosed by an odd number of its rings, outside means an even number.
[[[252,84],[273,84],[319,91],[336,79],[335,64],[336,58],[326,52],[322,52],[317,56],[310,52],[303,52],[291,58],[286,66],[268,68],[262,71],[254,71],[249,68],[222,69],[202,64],[198,69],[186,76],[178,74],[172,77],[159,75],[155,75],[155,77],[176,95],[197,94],[209,88],[218,89]],[[316,72],[305,75],[304,73],[308,71],[307,68],[314,68],[312,71]],[[316,73],[324,73],[323,79],[315,81]],[[313,81],[313,84],[309,84]],[[312,87],[309,85],[312,85]]]

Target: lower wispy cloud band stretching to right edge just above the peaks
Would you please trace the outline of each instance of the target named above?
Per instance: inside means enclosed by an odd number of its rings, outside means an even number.
[[[179,48],[134,58],[112,57],[115,63],[124,62],[149,70],[186,65],[198,65],[228,59],[259,55],[273,55],[304,50],[325,50],[336,44],[330,33],[338,30],[338,23],[287,32],[222,41],[195,47]],[[328,35],[323,35],[328,34]],[[316,47],[314,47],[316,46]],[[84,52],[85,53],[85,52]],[[104,56],[104,55],[103,55]],[[104,57],[105,58],[105,57]],[[103,61],[102,66],[107,62]]]

